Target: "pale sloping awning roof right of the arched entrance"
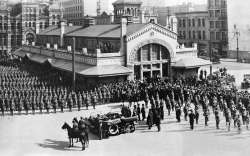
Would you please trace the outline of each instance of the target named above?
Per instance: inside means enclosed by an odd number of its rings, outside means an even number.
[[[173,68],[199,68],[201,66],[211,65],[208,60],[204,60],[198,57],[187,57],[177,60],[172,67]]]

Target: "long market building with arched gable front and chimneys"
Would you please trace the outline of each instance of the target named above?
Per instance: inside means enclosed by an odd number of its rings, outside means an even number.
[[[180,46],[172,29],[154,21],[131,23],[126,12],[119,18],[119,24],[88,27],[70,26],[61,20],[60,25],[39,33],[36,43],[24,45],[15,55],[49,63],[62,71],[74,69],[87,83],[196,76],[200,66],[210,64],[197,57],[196,44]]]

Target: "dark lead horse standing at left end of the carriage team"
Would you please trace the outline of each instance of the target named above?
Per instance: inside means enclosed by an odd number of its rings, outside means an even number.
[[[86,145],[88,145],[88,134],[85,130],[75,130],[70,127],[66,122],[63,124],[62,129],[67,129],[69,137],[69,147],[74,146],[73,138],[79,138],[82,143],[82,150],[85,150]]]

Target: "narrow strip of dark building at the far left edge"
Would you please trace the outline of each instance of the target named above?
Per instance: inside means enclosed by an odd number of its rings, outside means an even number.
[[[10,11],[7,0],[0,1],[0,57],[11,50]]]

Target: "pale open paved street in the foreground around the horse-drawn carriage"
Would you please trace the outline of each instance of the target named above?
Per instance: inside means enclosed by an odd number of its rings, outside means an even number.
[[[139,123],[135,133],[122,134],[104,140],[90,135],[90,145],[81,151],[81,144],[69,149],[67,133],[61,129],[73,117],[89,116],[95,113],[119,111],[120,104],[99,106],[94,110],[43,115],[5,116],[0,118],[1,155],[10,156],[246,156],[249,154],[250,131],[243,127],[242,134],[236,129],[225,130],[221,114],[221,129],[215,129],[214,115],[209,126],[204,127],[202,114],[195,130],[189,130],[189,123],[176,123],[174,113],[165,116],[162,131],[156,127],[148,130]],[[166,114],[166,113],[165,113]]]

